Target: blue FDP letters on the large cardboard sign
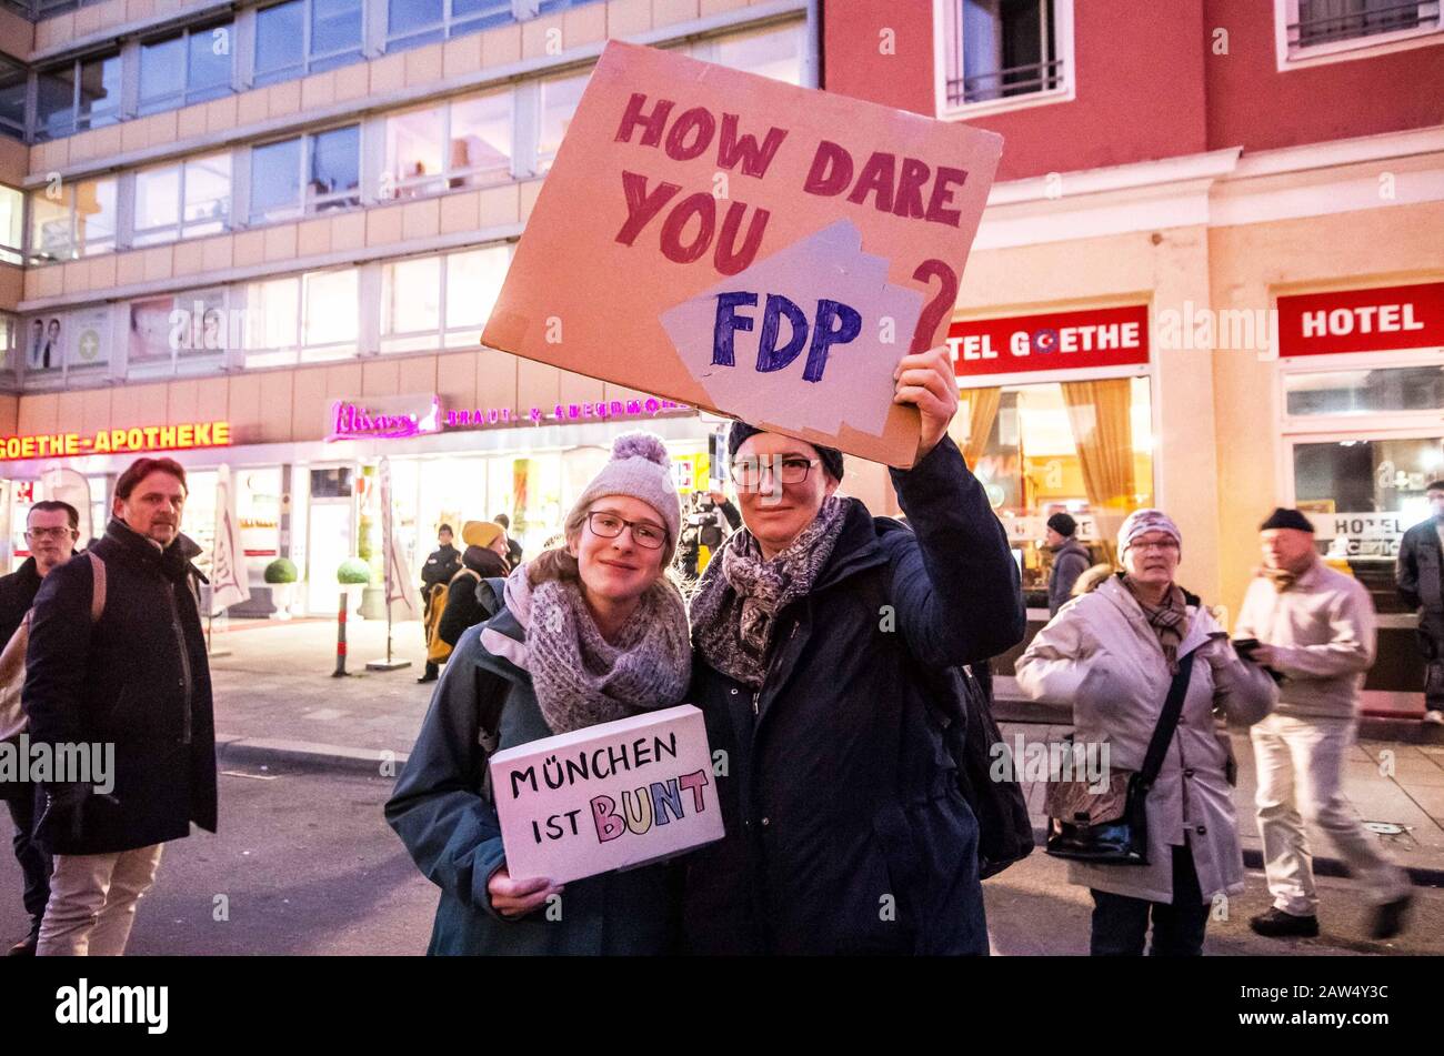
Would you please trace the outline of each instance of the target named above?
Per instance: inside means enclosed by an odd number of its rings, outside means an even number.
[[[757,307],[758,294],[738,290],[718,294],[716,317],[712,325],[712,364],[715,366],[736,365],[736,332],[751,332],[757,320],[738,314],[741,307]],[[783,319],[787,319],[791,335],[778,348],[778,333]],[[807,335],[812,333],[809,343]],[[757,371],[770,374],[791,364],[803,348],[807,348],[807,364],[803,366],[803,381],[822,381],[827,369],[827,356],[836,345],[846,345],[862,332],[862,316],[856,309],[836,300],[819,300],[809,322],[807,314],[794,302],[778,293],[767,294],[762,309],[762,327],[757,335]]]

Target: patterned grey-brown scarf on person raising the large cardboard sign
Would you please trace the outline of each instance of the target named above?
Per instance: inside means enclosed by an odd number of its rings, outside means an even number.
[[[693,638],[703,659],[757,688],[767,675],[777,613],[812,591],[827,566],[851,499],[830,495],[813,522],[771,561],[745,528],[708,563],[692,596]]]

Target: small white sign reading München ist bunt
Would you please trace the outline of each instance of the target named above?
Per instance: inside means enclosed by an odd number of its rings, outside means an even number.
[[[722,838],[690,704],[497,752],[491,789],[513,879],[566,883]]]

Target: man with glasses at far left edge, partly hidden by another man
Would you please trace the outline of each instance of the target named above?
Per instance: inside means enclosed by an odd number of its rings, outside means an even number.
[[[79,538],[79,514],[68,502],[36,502],[26,516],[25,541],[30,557],[16,571],[0,577],[0,645],[20,629],[25,615],[35,603],[40,580],[56,566],[65,564],[75,553]],[[20,710],[20,666],[13,684],[0,687],[0,739],[14,742],[25,730]],[[0,798],[10,808],[14,822],[14,858],[20,863],[25,883],[25,912],[30,915],[30,933],[10,946],[10,956],[35,954],[45,918],[45,903],[51,897],[51,855],[35,840],[36,789],[27,780],[0,780]]]

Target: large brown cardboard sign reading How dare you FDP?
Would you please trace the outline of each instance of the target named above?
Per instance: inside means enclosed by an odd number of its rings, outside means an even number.
[[[606,45],[482,340],[910,466],[1002,138]]]

